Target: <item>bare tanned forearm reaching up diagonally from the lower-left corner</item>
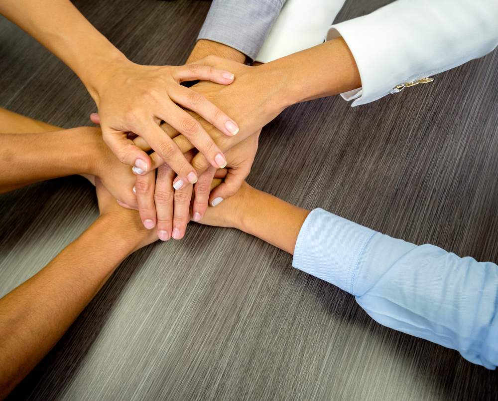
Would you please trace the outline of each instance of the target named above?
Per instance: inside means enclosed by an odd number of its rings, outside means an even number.
[[[139,219],[102,216],[39,273],[0,299],[0,399],[52,349],[147,235],[144,230]]]

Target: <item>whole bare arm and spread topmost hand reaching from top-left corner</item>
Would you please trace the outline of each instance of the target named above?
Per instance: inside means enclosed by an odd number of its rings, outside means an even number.
[[[227,85],[233,73],[190,64],[144,66],[129,61],[69,0],[5,0],[0,13],[20,26],[64,61],[83,81],[97,103],[106,143],[136,174],[151,169],[148,155],[127,139],[126,132],[146,142],[185,181],[197,175],[183,154],[159,128],[161,120],[184,134],[212,166],[225,163],[223,153],[197,120],[177,104],[195,111],[225,135],[237,132],[236,122],[183,81],[212,80]]]

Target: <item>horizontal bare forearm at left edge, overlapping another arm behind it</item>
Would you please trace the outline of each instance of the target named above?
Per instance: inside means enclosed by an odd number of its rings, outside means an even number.
[[[96,175],[94,164],[105,150],[103,141],[99,146],[97,130],[0,134],[0,193],[58,177]]]

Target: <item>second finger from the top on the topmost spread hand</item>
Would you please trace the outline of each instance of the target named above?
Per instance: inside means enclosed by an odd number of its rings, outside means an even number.
[[[239,126],[234,120],[204,96],[192,89],[180,86],[177,88],[172,99],[183,107],[196,112],[229,137],[239,132]]]

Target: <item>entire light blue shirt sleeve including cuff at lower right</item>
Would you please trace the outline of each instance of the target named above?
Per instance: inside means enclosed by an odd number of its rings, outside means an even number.
[[[417,246],[322,209],[297,239],[292,265],[353,294],[378,323],[498,365],[498,266]]]

